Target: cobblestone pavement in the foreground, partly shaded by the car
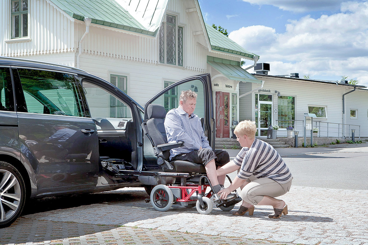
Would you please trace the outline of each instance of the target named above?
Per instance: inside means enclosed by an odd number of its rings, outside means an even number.
[[[158,212],[144,202],[142,188],[124,188],[36,200],[0,230],[0,244],[368,245],[367,196],[367,190],[295,186],[283,196],[289,214],[273,220],[269,206],[257,206],[253,216],[217,208],[202,215],[179,205]]]

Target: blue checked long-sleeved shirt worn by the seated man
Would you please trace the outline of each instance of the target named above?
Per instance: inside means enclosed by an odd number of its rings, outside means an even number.
[[[167,142],[184,141],[184,145],[170,150],[170,160],[179,153],[187,153],[209,146],[203,131],[201,120],[192,113],[189,117],[181,107],[171,109],[165,118],[165,131]]]

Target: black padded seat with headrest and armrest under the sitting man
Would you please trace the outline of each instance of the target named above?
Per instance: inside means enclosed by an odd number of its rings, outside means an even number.
[[[179,173],[206,173],[202,164],[190,161],[170,161],[170,149],[183,145],[184,142],[167,143],[164,121],[166,110],[162,105],[149,104],[145,111],[145,118],[148,121],[142,123],[144,133],[151,140],[155,155],[158,157],[158,164],[163,171]]]

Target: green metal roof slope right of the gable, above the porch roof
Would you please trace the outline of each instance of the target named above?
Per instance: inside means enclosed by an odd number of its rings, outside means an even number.
[[[248,58],[254,58],[254,56],[258,56],[254,53],[248,52],[243,47],[238,45],[236,42],[234,42],[227,36],[223,35],[221,32],[217,31],[209,24],[205,23],[205,25],[212,49],[226,53],[238,54],[240,56]]]

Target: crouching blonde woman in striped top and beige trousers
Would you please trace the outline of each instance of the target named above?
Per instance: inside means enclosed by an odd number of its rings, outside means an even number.
[[[268,217],[277,219],[287,214],[287,205],[276,199],[287,193],[291,186],[289,168],[284,160],[268,143],[255,138],[254,121],[241,121],[234,133],[243,147],[234,160],[217,169],[217,175],[232,173],[238,170],[229,187],[221,190],[220,198],[226,199],[231,191],[241,188],[243,203],[234,215],[253,215],[254,205],[270,205],[274,213]]]

